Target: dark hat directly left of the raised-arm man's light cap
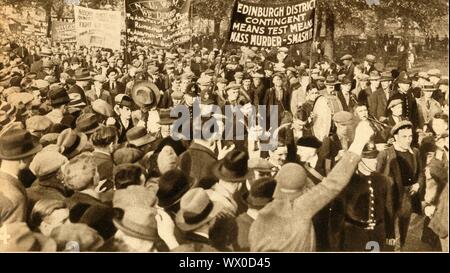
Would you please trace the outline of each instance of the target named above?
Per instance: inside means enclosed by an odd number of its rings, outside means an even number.
[[[252,183],[250,192],[244,194],[244,200],[253,209],[261,209],[273,200],[277,183],[275,179],[264,177]]]

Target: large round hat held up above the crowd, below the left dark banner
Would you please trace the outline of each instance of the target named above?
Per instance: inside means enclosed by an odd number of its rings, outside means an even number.
[[[160,97],[158,87],[149,81],[139,82],[131,90],[131,98],[139,107],[152,108],[158,105]]]

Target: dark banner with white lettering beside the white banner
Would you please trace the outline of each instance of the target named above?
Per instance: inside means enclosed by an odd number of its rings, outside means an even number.
[[[125,0],[131,44],[170,48],[191,38],[191,0]]]

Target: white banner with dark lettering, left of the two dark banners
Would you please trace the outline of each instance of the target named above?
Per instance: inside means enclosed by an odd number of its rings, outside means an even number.
[[[77,46],[120,49],[120,11],[75,6]]]

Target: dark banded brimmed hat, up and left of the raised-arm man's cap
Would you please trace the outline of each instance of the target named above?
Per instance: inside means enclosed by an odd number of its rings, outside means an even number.
[[[227,182],[243,182],[249,175],[248,159],[247,152],[235,149],[215,164],[213,174]]]

